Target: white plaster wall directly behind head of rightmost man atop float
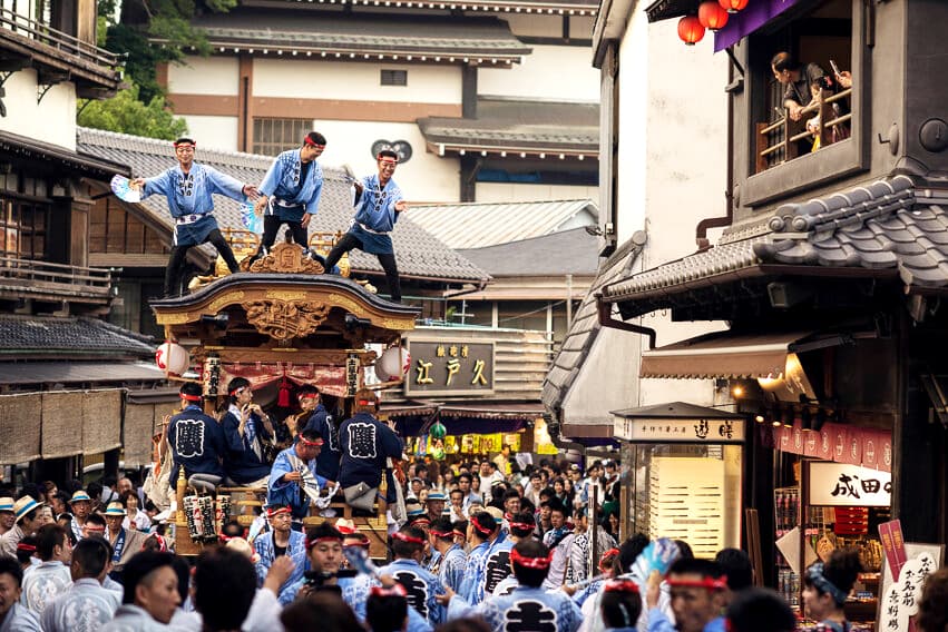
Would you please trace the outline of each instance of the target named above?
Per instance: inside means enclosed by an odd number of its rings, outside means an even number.
[[[411,124],[375,124],[315,120],[313,129],[326,137],[326,149],[320,159],[325,165],[350,165],[356,176],[377,171],[371,155],[379,139],[408,140],[411,160],[398,166],[394,179],[409,201],[458,201],[460,199],[460,161],[439,158],[427,151],[418,126]]]

